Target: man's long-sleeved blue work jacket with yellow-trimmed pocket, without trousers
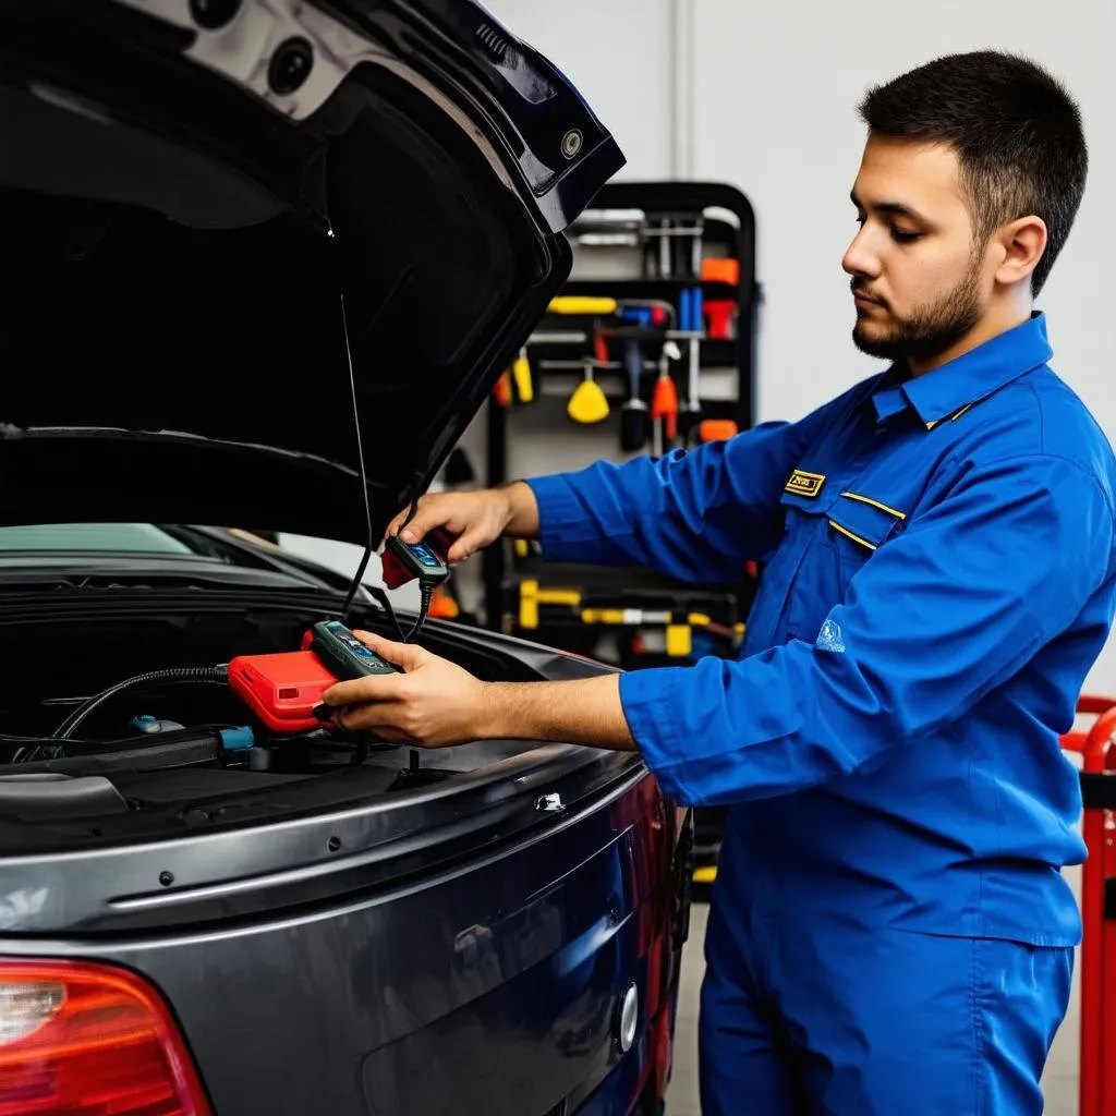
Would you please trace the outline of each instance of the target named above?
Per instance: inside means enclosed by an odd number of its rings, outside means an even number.
[[[795,423],[532,480],[543,556],[763,574],[741,657],[633,671],[668,795],[728,811],[718,887],[804,917],[1072,945],[1059,747],[1114,612],[1116,462],[1041,314]]]

